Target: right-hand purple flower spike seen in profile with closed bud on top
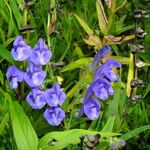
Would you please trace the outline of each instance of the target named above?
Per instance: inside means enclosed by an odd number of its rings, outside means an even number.
[[[112,71],[112,68],[120,68],[121,64],[116,60],[108,59],[102,66],[98,66],[100,60],[104,58],[110,50],[111,48],[109,46],[103,46],[94,57],[93,67],[95,73],[93,81],[87,89],[79,116],[85,113],[89,119],[97,119],[101,109],[97,98],[106,100],[109,95],[114,94],[111,82],[117,82],[119,78]]]

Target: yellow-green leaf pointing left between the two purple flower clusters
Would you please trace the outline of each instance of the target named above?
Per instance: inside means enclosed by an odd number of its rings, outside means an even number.
[[[88,63],[91,63],[92,61],[93,61],[93,58],[91,58],[91,57],[80,58],[74,62],[71,62],[67,66],[63,67],[61,72],[70,71],[70,70],[73,70],[76,68],[81,68],[81,67],[87,65]]]

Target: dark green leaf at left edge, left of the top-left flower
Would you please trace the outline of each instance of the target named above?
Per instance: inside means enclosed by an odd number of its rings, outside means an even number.
[[[10,52],[8,49],[6,49],[3,45],[0,44],[0,56],[4,59],[6,59],[8,62],[11,64],[16,64],[13,57],[11,56]]]

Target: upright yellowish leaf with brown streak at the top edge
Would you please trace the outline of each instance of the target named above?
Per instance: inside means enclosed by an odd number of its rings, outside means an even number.
[[[107,18],[101,0],[96,1],[96,9],[98,15],[99,27],[102,33],[105,33],[107,28]]]

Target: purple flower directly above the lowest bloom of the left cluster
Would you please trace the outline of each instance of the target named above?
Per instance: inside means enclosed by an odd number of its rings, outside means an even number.
[[[45,92],[45,100],[50,106],[61,105],[65,99],[66,95],[58,83],[55,83],[51,89]]]

